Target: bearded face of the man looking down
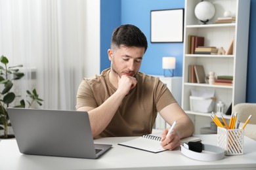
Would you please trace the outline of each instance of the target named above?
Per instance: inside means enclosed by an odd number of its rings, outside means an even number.
[[[108,50],[112,71],[120,77],[121,75],[135,76],[140,69],[144,51],[144,47],[136,46],[120,46],[119,48]]]

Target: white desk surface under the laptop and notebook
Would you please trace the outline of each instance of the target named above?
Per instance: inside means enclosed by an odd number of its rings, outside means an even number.
[[[197,135],[202,143],[217,144],[216,135]],[[0,142],[0,169],[256,169],[256,141],[245,137],[244,155],[225,156],[219,161],[197,161],[183,156],[179,150],[158,154],[117,143],[134,137],[97,139],[95,143],[113,144],[97,160],[32,156],[20,154],[15,140]]]

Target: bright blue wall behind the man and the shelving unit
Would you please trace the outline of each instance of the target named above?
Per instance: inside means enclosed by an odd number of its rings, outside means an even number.
[[[120,24],[137,25],[148,39],[148,50],[144,55],[140,71],[150,75],[163,75],[161,58],[175,56],[177,58],[175,76],[182,76],[182,43],[151,43],[150,42],[150,10],[181,9],[182,0],[101,0],[100,20],[100,70],[110,67],[107,50],[114,27]],[[249,56],[247,67],[247,103],[256,103],[256,35],[255,14],[256,0],[251,0],[251,18],[249,32]]]

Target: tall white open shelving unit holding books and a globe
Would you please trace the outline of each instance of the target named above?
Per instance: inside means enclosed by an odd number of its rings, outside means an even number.
[[[186,0],[184,12],[184,51],[182,76],[182,109],[190,116],[195,125],[195,134],[200,133],[201,127],[209,127],[210,113],[192,112],[190,110],[191,90],[215,90],[216,103],[223,101],[224,110],[232,103],[245,102],[246,75],[247,75],[247,46],[249,35],[249,0],[211,0],[215,6],[215,16],[208,24],[201,24],[194,14],[194,9],[201,0]],[[236,16],[236,23],[213,24],[218,17],[223,17],[226,10]],[[188,35],[205,37],[204,46],[223,47],[228,50],[230,42],[234,40],[232,55],[200,55],[188,54]],[[232,75],[232,86],[217,86],[188,82],[188,65],[203,65],[205,75],[214,71],[215,76]],[[225,115],[226,120],[230,116]]]

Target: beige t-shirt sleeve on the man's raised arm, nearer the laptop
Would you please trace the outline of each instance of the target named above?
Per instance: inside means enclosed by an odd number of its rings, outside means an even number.
[[[83,78],[81,84],[79,84],[76,100],[77,104],[75,109],[79,107],[98,107],[93,90],[85,78]]]

